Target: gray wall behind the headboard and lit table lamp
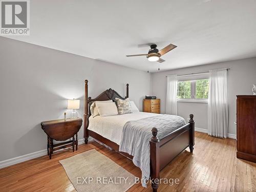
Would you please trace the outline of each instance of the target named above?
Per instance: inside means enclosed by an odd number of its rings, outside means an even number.
[[[146,72],[0,37],[0,161],[44,150],[40,122],[63,118],[67,99],[80,99],[82,117],[84,79],[92,97],[109,88],[124,96],[129,83],[140,110],[151,94]]]

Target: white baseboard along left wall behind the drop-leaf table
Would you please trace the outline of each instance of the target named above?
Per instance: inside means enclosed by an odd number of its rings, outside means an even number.
[[[89,137],[88,140],[92,141],[93,138]],[[78,145],[80,145],[82,143],[84,143],[84,139],[79,139],[78,140]],[[60,150],[57,150],[57,151],[61,151],[61,150],[64,150],[64,149],[60,149]],[[17,163],[21,163],[21,162],[28,161],[28,160],[31,160],[31,159],[34,159],[34,158],[37,158],[37,157],[45,156],[45,155],[47,155],[47,149],[41,150],[41,151],[38,151],[38,152],[34,152],[34,153],[30,153],[30,154],[26,154],[26,155],[22,155],[22,156],[19,156],[19,157],[14,157],[14,158],[7,159],[7,160],[4,160],[4,161],[0,161],[0,168],[4,168],[4,167],[10,166],[10,165],[14,165],[14,164],[17,164]]]

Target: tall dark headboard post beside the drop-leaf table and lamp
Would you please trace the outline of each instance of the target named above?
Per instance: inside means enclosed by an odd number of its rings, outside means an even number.
[[[88,143],[88,123],[89,123],[89,115],[88,115],[88,80],[85,80],[85,86],[84,86],[84,115],[83,115],[83,126],[84,126],[84,132],[83,132],[83,137],[84,137],[84,142],[87,144]]]

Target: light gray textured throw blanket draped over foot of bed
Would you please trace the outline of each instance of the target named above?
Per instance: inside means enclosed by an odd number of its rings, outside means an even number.
[[[133,163],[142,172],[142,186],[146,187],[146,181],[150,179],[152,128],[157,128],[157,136],[161,139],[185,124],[185,120],[176,115],[159,115],[125,123],[119,151],[133,156]]]

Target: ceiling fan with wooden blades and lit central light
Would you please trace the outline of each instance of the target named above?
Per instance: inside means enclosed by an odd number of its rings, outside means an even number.
[[[148,53],[138,54],[138,55],[126,55],[126,57],[146,56],[146,58],[149,61],[164,62],[165,60],[161,59],[160,57],[163,56],[165,53],[168,53],[170,50],[173,50],[176,47],[177,46],[170,44],[159,51],[157,49],[157,45],[153,44],[150,46],[151,49],[148,51]]]

